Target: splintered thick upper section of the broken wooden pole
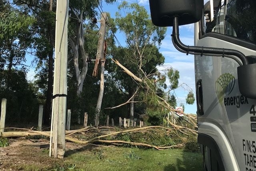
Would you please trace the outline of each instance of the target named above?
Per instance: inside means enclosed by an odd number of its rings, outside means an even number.
[[[107,13],[104,12],[100,18],[100,32],[99,32],[99,40],[98,40],[98,47],[97,47],[97,54],[96,60],[94,64],[94,69],[92,76],[96,77],[98,75],[98,66],[100,61],[103,60],[103,51],[104,51],[104,42],[105,42],[105,35],[106,35],[106,20],[107,20]]]

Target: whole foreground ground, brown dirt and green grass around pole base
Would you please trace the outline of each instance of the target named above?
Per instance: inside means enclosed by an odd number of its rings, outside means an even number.
[[[49,149],[22,146],[16,151],[18,151],[17,154],[9,156],[10,159],[0,162],[0,168],[2,168],[0,170],[203,171],[202,155],[182,149],[158,151],[125,147],[86,146],[67,150],[64,159],[48,157]]]

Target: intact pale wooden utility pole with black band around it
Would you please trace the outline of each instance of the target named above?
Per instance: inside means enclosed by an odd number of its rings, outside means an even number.
[[[68,7],[69,0],[57,0],[50,156],[52,152],[53,157],[60,159],[63,159],[65,154]],[[52,143],[53,148],[51,147]]]

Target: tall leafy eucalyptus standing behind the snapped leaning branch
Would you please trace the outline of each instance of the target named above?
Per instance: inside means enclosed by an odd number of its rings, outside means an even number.
[[[154,26],[146,9],[136,3],[123,2],[118,8],[129,11],[125,17],[116,13],[116,25],[124,33],[127,46],[126,49],[119,50],[114,58],[120,60],[120,63],[136,76],[144,80],[155,79],[156,66],[164,63],[164,57],[159,53],[158,48],[164,39],[166,28]],[[123,53],[122,58],[119,58],[120,52]],[[118,74],[120,72],[117,72]],[[130,97],[140,87],[132,78],[127,77],[121,81],[121,85]],[[134,98],[130,101],[130,118],[134,115],[133,101]]]

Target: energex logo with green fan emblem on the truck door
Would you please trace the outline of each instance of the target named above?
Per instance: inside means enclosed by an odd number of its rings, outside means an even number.
[[[215,89],[220,103],[223,101],[225,106],[235,105],[239,108],[241,104],[248,104],[248,100],[243,95],[230,96],[235,82],[236,79],[232,74],[222,74],[215,82]]]

